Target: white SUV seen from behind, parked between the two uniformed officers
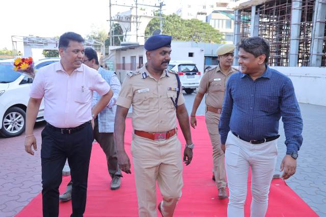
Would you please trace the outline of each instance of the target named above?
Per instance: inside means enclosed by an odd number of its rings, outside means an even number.
[[[170,61],[168,69],[178,72],[182,89],[192,94],[199,87],[201,73],[192,61]]]

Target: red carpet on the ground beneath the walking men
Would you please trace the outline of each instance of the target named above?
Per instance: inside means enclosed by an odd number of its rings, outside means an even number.
[[[175,216],[226,216],[228,199],[220,200],[211,179],[212,157],[205,118],[198,117],[198,126],[192,130],[196,144],[191,165],[184,167],[182,197],[175,210]],[[127,119],[125,142],[130,153],[131,120]],[[182,144],[181,130],[178,137]],[[282,154],[282,153],[281,153]],[[129,155],[130,156],[130,155]],[[130,156],[130,160],[131,160]],[[133,166],[131,166],[131,170]],[[133,172],[133,171],[132,171]],[[124,174],[121,188],[110,190],[111,178],[107,173],[105,155],[98,144],[92,149],[89,171],[88,197],[85,216],[138,216],[137,196],[133,174]],[[63,193],[70,177],[65,177],[60,186]],[[250,186],[250,182],[248,183]],[[250,190],[250,187],[248,188]],[[248,191],[246,216],[250,216],[251,193]],[[161,196],[157,189],[157,201]],[[60,216],[71,214],[71,203],[60,203]],[[42,196],[39,194],[24,207],[17,216],[42,216]],[[282,179],[273,180],[269,193],[266,216],[317,216],[317,214],[286,185]]]

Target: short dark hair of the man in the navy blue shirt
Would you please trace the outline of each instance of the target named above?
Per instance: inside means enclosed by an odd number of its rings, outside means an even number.
[[[261,37],[250,37],[242,39],[238,44],[238,49],[244,49],[244,51],[251,53],[255,57],[265,55],[265,63],[268,63],[269,59],[269,42]]]

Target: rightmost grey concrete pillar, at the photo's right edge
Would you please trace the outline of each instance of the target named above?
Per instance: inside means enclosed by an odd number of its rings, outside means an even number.
[[[310,66],[321,66],[322,58],[322,44],[325,31],[325,21],[326,19],[326,3],[321,3],[321,1],[316,0],[314,16],[312,20],[312,33],[311,33],[311,42],[312,49],[310,49],[311,59]]]

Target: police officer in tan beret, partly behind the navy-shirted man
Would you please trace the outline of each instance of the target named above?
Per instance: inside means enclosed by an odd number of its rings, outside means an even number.
[[[213,147],[213,173],[215,183],[219,189],[219,198],[228,198],[226,192],[224,153],[221,149],[221,139],[219,134],[219,122],[222,112],[225,87],[229,76],[238,70],[232,67],[233,44],[225,44],[217,50],[220,64],[204,73],[191,113],[191,125],[197,126],[196,111],[206,93],[206,126],[209,133],[210,141]]]

